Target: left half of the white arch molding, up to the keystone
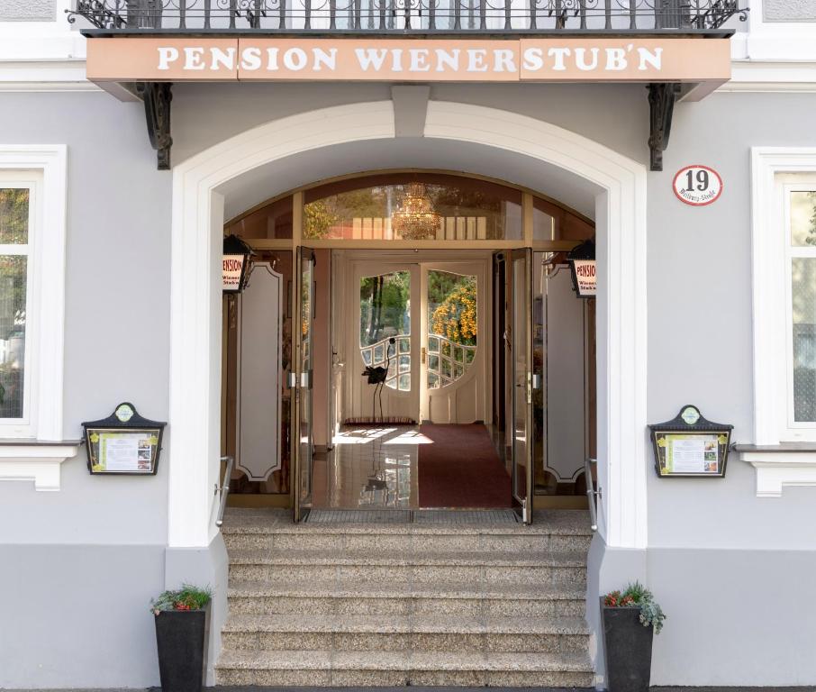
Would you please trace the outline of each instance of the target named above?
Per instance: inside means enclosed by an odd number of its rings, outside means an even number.
[[[327,127],[331,123],[331,127]],[[205,547],[220,468],[223,196],[218,187],[270,161],[394,137],[390,101],[296,114],[242,132],[173,169],[170,269],[168,543]],[[210,431],[202,435],[201,431]]]

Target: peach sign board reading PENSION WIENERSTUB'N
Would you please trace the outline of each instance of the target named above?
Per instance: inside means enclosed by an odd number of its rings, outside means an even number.
[[[717,82],[729,41],[121,38],[87,44],[91,81]]]

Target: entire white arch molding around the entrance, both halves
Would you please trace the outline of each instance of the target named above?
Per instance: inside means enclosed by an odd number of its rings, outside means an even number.
[[[598,228],[598,480],[600,531],[613,547],[645,548],[646,168],[598,142],[530,117],[430,101],[425,137],[540,159],[593,182]],[[173,170],[170,292],[168,544],[203,548],[216,533],[221,405],[223,196],[247,171],[299,152],[390,139],[391,101],[296,114],[222,141]]]

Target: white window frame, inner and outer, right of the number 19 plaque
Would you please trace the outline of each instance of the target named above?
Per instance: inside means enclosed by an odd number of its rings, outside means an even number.
[[[793,254],[787,201],[796,187],[784,174],[816,179],[816,148],[755,147],[752,155],[754,442],[816,442],[816,423],[792,423]]]

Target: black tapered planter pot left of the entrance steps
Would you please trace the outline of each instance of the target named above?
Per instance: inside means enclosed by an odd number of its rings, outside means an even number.
[[[162,692],[201,692],[210,640],[210,604],[201,610],[160,610],[154,619]]]

